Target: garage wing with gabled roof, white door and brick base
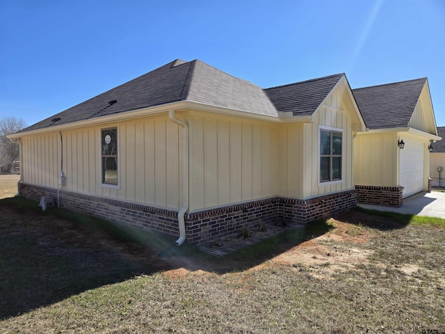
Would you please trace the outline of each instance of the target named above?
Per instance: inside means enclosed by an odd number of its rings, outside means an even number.
[[[430,189],[430,152],[437,127],[428,79],[353,90],[367,127],[354,138],[358,202],[400,207]]]

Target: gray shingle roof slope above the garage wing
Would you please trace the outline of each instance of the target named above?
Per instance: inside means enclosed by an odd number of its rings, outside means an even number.
[[[407,127],[426,78],[353,89],[369,129]]]

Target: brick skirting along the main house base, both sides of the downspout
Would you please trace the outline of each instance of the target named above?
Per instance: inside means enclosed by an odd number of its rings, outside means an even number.
[[[20,194],[25,198],[40,201],[42,196],[51,196],[56,205],[91,216],[106,219],[133,228],[149,230],[158,234],[179,235],[178,212],[148,205],[139,205],[122,200],[91,196],[84,193],[47,188],[22,183]],[[186,239],[191,244],[205,244],[216,239],[233,237],[243,228],[254,230],[261,222],[266,224],[282,221],[291,224],[306,224],[337,212],[346,212],[357,206],[357,191],[343,191],[331,195],[297,200],[273,197],[237,205],[190,212],[184,216]]]

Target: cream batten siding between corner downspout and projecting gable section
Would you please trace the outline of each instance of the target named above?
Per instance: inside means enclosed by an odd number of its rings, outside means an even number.
[[[190,211],[276,196],[277,124],[191,111]]]

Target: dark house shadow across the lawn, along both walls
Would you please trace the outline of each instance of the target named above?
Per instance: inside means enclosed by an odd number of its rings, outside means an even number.
[[[175,237],[110,223],[65,209],[46,212],[24,198],[0,200],[0,319],[15,317],[72,295],[142,274],[175,269],[240,271],[332,229],[325,220],[264,239],[223,257]],[[182,263],[184,263],[182,262]],[[176,263],[176,264],[172,264]]]

